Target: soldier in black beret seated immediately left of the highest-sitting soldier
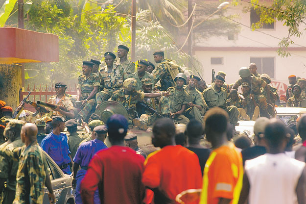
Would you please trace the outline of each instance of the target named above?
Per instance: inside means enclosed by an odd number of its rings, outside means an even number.
[[[123,66],[119,63],[115,64],[116,55],[110,51],[105,52],[106,66],[99,72],[101,80],[100,92],[97,93],[95,99],[97,107],[109,100],[113,93],[122,88],[123,81],[127,78],[127,74]],[[133,72],[134,73],[134,72]]]

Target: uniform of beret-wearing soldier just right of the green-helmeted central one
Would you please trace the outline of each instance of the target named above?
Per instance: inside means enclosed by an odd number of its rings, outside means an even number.
[[[185,91],[187,91],[187,93],[190,96],[190,102],[192,102],[195,105],[201,105],[202,106],[202,110],[200,111],[197,107],[189,107],[185,110],[184,115],[186,117],[188,117],[188,119],[195,119],[198,120],[201,123],[204,123],[202,116],[205,114],[206,109],[207,109],[207,104],[203,99],[203,96],[201,94],[201,92],[199,92],[196,88],[193,90],[189,90],[188,86],[186,86]]]

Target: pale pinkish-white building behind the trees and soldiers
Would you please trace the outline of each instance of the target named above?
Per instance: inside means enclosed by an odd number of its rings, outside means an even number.
[[[256,12],[243,13],[245,6],[249,6],[249,3],[240,1],[238,6],[230,4],[225,14],[239,14],[240,18],[233,20],[245,25],[240,25],[241,31],[234,39],[233,36],[211,37],[193,46],[193,54],[203,64],[204,79],[211,82],[214,69],[216,73],[224,71],[227,74],[228,84],[234,83],[239,78],[239,68],[247,67],[250,62],[255,62],[259,74],[268,74],[272,81],[287,84],[289,75],[306,78],[306,32],[300,38],[292,38],[295,44],[288,49],[291,56],[281,57],[277,53],[278,44],[280,39],[288,35],[288,28],[282,22],[275,22],[258,31],[252,31],[250,27],[254,21],[258,21],[258,16]],[[300,26],[301,30],[305,30],[305,25]],[[277,86],[276,83],[273,85]]]

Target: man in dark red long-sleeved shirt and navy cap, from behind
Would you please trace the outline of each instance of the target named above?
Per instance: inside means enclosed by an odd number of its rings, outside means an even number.
[[[124,145],[128,122],[115,114],[106,125],[112,147],[97,152],[89,163],[81,182],[82,201],[94,204],[94,191],[98,188],[101,204],[142,204],[144,158]]]

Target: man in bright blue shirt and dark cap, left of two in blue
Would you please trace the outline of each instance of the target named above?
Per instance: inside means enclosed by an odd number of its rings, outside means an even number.
[[[54,116],[52,118],[53,130],[42,140],[41,147],[65,174],[70,175],[70,166],[72,166],[71,152],[67,135],[62,133],[65,129],[65,122],[62,116]]]

